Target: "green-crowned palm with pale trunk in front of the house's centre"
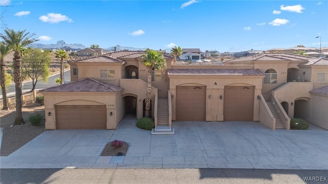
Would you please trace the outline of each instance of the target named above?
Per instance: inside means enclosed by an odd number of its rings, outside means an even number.
[[[164,71],[166,69],[166,60],[164,59],[162,53],[147,49],[146,54],[144,54],[144,60],[142,60],[142,63],[144,63],[148,67],[145,117],[150,118],[150,92],[152,89],[152,71],[154,69]]]

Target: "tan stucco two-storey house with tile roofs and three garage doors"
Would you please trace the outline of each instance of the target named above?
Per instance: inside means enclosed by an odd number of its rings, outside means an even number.
[[[68,61],[71,83],[42,90],[46,129],[115,129],[125,114],[144,116],[144,51]],[[261,53],[225,65],[172,65],[153,71],[155,126],[172,121],[258,121],[290,129],[299,117],[328,129],[328,59]]]

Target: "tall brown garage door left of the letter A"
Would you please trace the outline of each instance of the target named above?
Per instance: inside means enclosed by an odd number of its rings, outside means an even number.
[[[205,121],[206,86],[176,86],[176,120]]]

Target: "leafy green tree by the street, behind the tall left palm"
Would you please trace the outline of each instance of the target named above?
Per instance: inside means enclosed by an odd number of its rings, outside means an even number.
[[[32,79],[33,87],[31,91],[35,89],[35,85],[39,79],[42,78],[44,82],[48,81],[50,75],[50,53],[42,52],[40,49],[29,48],[22,59],[23,73]]]

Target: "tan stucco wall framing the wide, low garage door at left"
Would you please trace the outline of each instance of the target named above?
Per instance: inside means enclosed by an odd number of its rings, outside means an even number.
[[[116,93],[42,93],[45,99],[46,129],[56,129],[55,105],[106,105],[107,129],[115,129],[120,117],[117,117]],[[110,112],[113,116],[109,116]]]

